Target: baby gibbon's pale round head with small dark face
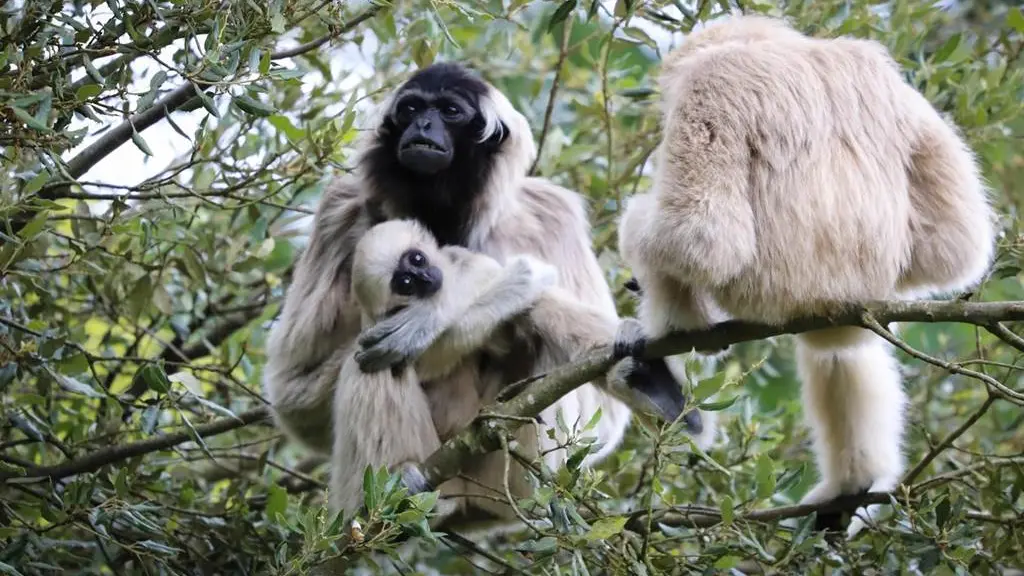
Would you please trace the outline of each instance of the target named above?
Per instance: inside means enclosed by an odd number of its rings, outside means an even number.
[[[352,292],[379,319],[440,290],[444,275],[437,244],[415,220],[388,220],[367,232],[352,258]]]

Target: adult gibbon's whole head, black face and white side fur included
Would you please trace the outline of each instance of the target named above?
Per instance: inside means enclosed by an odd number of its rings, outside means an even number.
[[[537,156],[526,118],[459,64],[419,70],[377,114],[361,177],[392,217],[417,218],[442,245],[465,245],[481,209],[503,211]]]

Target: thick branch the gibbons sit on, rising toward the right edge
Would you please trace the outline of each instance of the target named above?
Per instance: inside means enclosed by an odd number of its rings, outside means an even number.
[[[992,326],[998,322],[1024,320],[1024,301],[965,302],[961,300],[870,302],[864,305],[840,306],[827,317],[798,318],[781,326],[755,322],[728,321],[705,330],[677,332],[648,342],[645,357],[664,358],[683,354],[695,347],[724,348],[750,340],[760,340],[783,334],[798,334],[839,326],[862,326],[870,322],[881,326],[892,322],[957,322],[977,326]],[[933,359],[936,360],[937,359]],[[607,372],[617,362],[611,347],[603,346],[579,361],[561,366],[544,377],[526,384],[515,398],[497,404],[488,412],[504,416],[504,428],[512,431],[522,424],[522,418],[532,418],[556,400],[578,386]],[[947,369],[965,373],[963,368],[937,361]],[[968,371],[970,372],[970,371]],[[974,373],[967,374],[974,376]],[[989,383],[990,382],[987,382]],[[998,384],[998,382],[996,382]],[[1001,386],[1006,388],[1006,386]],[[992,387],[989,387],[992,389]],[[1013,395],[1018,395],[1010,390]],[[1000,390],[1001,393],[1001,390]],[[1006,396],[1004,394],[1004,396]],[[511,417],[511,418],[509,418]],[[458,475],[464,462],[501,446],[495,428],[487,425],[488,417],[479,417],[466,429],[449,439],[424,462],[423,471],[432,486]]]

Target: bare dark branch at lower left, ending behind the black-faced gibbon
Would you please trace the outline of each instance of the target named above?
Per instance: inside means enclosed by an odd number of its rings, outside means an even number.
[[[266,408],[256,408],[239,414],[237,418],[221,418],[208,424],[196,426],[196,434],[198,434],[200,438],[210,438],[265,420],[269,417],[269,410]],[[190,430],[162,435],[148,440],[143,440],[141,442],[126,444],[124,446],[112,446],[102,450],[96,450],[95,452],[90,452],[81,458],[76,458],[53,466],[35,466],[20,474],[0,470],[0,481],[7,481],[13,478],[17,478],[19,483],[42,479],[60,480],[61,478],[67,478],[77,474],[95,471],[105,465],[123,462],[124,460],[135,456],[167,450],[172,446],[177,446],[178,444],[183,444],[190,440],[194,440],[194,436]]]

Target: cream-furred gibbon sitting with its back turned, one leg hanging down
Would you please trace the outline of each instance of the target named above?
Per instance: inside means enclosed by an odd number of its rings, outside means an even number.
[[[985,275],[994,216],[974,156],[880,43],[724,18],[667,56],[659,84],[653,190],[618,231],[648,334],[783,323]],[[797,362],[821,476],[804,502],[894,489],[906,396],[887,343],[805,333]]]

